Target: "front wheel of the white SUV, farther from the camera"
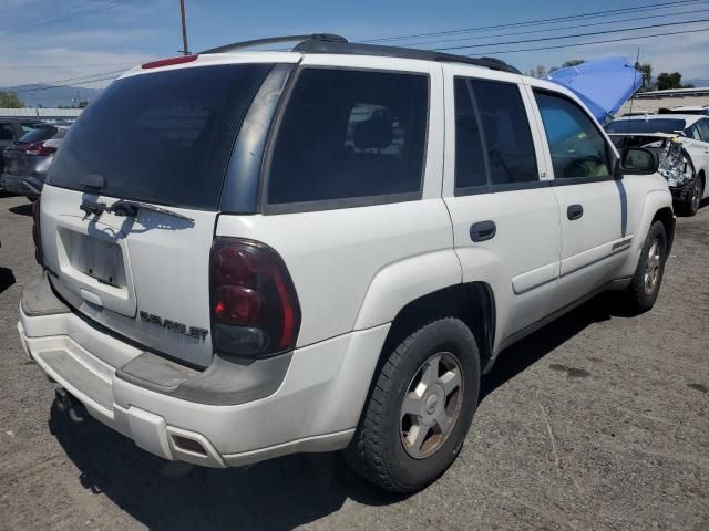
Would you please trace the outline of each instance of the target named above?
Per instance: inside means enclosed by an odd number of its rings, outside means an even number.
[[[629,310],[633,313],[647,312],[655,305],[662,283],[666,261],[667,235],[665,226],[661,221],[655,221],[648,230],[638,267],[626,291]]]

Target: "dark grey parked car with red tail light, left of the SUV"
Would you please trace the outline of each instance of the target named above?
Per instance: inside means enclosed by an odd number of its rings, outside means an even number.
[[[27,196],[30,200],[40,197],[54,154],[68,131],[68,124],[35,125],[7,147],[3,152],[6,167],[0,186],[11,194]]]

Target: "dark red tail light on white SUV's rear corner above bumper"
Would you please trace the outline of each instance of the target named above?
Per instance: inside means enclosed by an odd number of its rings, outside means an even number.
[[[209,257],[212,341],[219,354],[264,357],[291,351],[300,306],[280,256],[250,240],[218,237]]]

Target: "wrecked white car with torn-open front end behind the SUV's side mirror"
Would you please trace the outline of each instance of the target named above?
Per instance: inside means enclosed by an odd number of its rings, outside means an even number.
[[[677,165],[660,166],[676,208],[688,216],[709,197],[709,117],[693,114],[654,114],[617,118],[606,126],[616,146],[666,149],[678,137],[684,153]]]

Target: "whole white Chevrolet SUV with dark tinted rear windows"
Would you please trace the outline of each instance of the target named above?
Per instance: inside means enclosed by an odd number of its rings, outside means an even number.
[[[667,183],[568,91],[331,35],[225,48],[129,71],[54,160],[18,327],[72,415],[208,467],[347,448],[413,491],[507,345],[606,289],[655,303]]]

